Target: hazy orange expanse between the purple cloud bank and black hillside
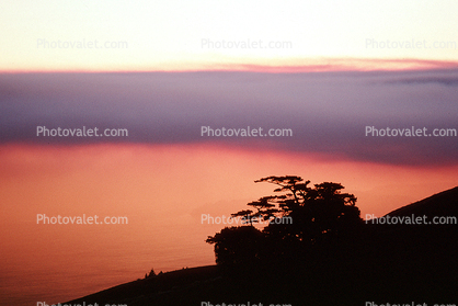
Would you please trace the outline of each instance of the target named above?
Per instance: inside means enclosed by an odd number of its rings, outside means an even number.
[[[65,302],[142,277],[214,263],[205,243],[229,216],[272,194],[253,181],[298,174],[340,182],[365,214],[458,185],[454,168],[408,168],[222,146],[0,147],[1,305]],[[126,216],[127,225],[43,225],[48,216]]]

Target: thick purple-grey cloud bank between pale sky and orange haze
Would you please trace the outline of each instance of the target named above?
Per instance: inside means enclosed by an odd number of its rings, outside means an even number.
[[[373,137],[375,128],[458,129],[458,70],[0,75],[0,143],[224,143],[392,165],[458,162],[458,137]],[[127,128],[128,137],[43,137],[47,128]],[[293,137],[206,137],[290,128]]]

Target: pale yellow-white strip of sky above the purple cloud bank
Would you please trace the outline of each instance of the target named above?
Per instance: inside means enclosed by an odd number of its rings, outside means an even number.
[[[456,61],[457,11],[453,0],[3,1],[0,70],[374,68],[387,64],[360,60]],[[242,48],[248,39],[262,41],[264,47]],[[96,49],[77,46],[95,41]],[[240,47],[224,48],[222,41]],[[286,44],[268,48],[270,42]]]

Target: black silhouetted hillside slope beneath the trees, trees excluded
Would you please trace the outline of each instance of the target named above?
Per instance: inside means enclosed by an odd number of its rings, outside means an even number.
[[[455,216],[458,188],[388,214]],[[458,225],[366,224],[351,240],[307,260],[278,259],[222,271],[216,265],[163,273],[69,304],[136,305],[458,305]],[[370,304],[374,305],[374,304]]]

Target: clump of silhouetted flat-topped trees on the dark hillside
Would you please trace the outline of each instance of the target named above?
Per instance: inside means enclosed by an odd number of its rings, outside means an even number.
[[[225,228],[206,242],[215,243],[218,264],[268,260],[295,254],[336,239],[345,239],[362,224],[356,197],[342,193],[340,183],[323,182],[310,186],[300,177],[266,177],[255,181],[276,185],[275,195],[248,203],[251,209],[232,214],[245,225]],[[268,220],[262,230],[253,223]]]

